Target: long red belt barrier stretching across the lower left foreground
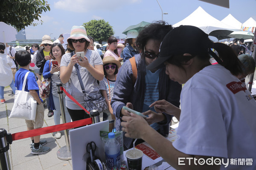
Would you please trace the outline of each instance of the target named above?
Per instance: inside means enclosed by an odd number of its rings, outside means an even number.
[[[77,120],[74,122],[64,123],[64,124],[60,124],[60,125],[53,125],[53,126],[43,127],[43,128],[39,128],[39,129],[33,129],[33,130],[27,130],[27,131],[23,131],[23,132],[13,133],[12,141],[29,138],[29,137],[33,137],[33,136],[44,135],[47,133],[57,132],[57,131],[61,131],[61,130],[71,129],[74,127],[90,125],[92,123],[93,123],[92,119],[87,118],[87,119]]]

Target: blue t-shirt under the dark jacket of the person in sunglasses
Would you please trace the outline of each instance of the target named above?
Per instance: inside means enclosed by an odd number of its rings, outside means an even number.
[[[143,112],[148,111],[148,106],[151,105],[153,102],[159,99],[159,91],[158,91],[158,83],[159,83],[159,73],[161,69],[157,70],[156,72],[152,73],[149,70],[146,70],[147,74],[145,76],[145,96],[144,96],[144,104],[143,104]],[[154,111],[154,107],[150,108],[151,111]],[[160,126],[157,123],[153,123],[150,125],[154,130],[158,130]]]

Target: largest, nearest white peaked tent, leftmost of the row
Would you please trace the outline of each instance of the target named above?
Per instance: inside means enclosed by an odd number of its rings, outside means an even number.
[[[217,20],[215,17],[212,17],[206,11],[204,11],[201,6],[199,6],[192,14],[186,17],[184,20],[174,24],[174,27],[178,27],[180,25],[190,25],[196,26],[203,30],[206,34],[209,34],[215,30],[230,30],[230,31],[239,31],[240,29],[236,29],[233,26],[229,26],[227,24],[222,23]]]

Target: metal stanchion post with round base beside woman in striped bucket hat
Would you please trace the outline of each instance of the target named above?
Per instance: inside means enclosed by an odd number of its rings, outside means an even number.
[[[57,90],[58,90],[58,95],[59,95],[59,100],[60,100],[60,105],[61,105],[61,118],[62,122],[66,123],[66,114],[65,114],[65,108],[64,108],[64,100],[63,100],[63,91],[61,91],[62,83],[57,83]],[[71,159],[71,151],[70,151],[70,142],[69,142],[69,134],[67,132],[67,129],[64,130],[65,134],[65,141],[66,141],[66,146],[61,147],[57,151],[57,157],[58,159],[61,160],[70,160]]]

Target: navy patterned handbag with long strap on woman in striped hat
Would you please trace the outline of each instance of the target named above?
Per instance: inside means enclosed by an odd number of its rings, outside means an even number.
[[[77,77],[79,79],[79,83],[81,85],[81,88],[84,94],[84,108],[89,112],[92,110],[98,110],[100,113],[108,109],[108,105],[105,101],[105,97],[103,97],[100,93],[90,96],[85,92],[84,84],[82,82],[77,64],[75,64],[75,68],[76,68]]]

